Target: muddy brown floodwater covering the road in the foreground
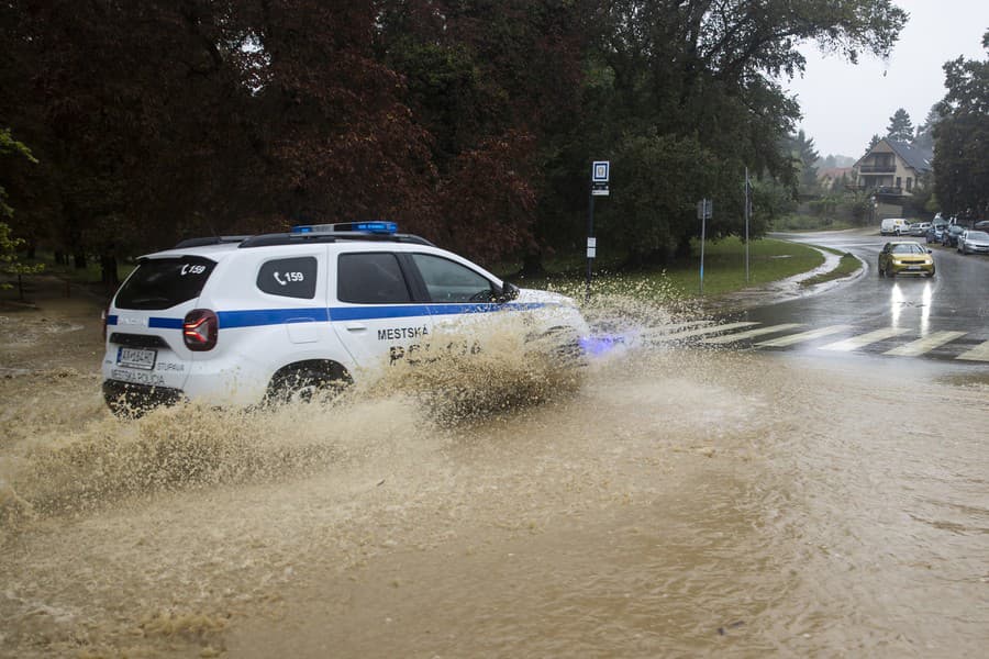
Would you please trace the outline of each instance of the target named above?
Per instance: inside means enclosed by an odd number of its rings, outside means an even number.
[[[0,656],[989,644],[985,371],[665,346],[573,377],[509,351],[123,422],[75,302],[0,313]]]

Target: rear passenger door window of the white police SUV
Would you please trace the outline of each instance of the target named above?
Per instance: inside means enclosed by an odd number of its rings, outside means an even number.
[[[355,304],[412,301],[398,258],[388,252],[341,254],[336,267],[336,297],[341,302]]]

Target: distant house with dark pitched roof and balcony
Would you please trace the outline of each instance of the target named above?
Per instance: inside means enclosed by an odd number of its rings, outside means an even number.
[[[923,186],[933,159],[927,149],[884,137],[858,159],[849,178],[854,188],[877,197],[910,197]]]

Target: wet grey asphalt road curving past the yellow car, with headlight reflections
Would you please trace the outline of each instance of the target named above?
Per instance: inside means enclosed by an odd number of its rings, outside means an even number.
[[[936,275],[889,279],[879,277],[877,261],[882,246],[894,238],[876,230],[779,237],[851,252],[867,267],[854,281],[823,293],[733,316],[758,323],[752,325],[756,336],[742,336],[740,330],[742,337],[732,342],[737,347],[989,364],[989,257],[963,256],[915,238],[933,250]],[[788,326],[773,332],[777,325]]]

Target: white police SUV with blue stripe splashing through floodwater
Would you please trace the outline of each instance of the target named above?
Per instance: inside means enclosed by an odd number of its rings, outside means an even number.
[[[380,375],[452,321],[513,313],[557,347],[587,336],[571,299],[519,289],[392,222],[185,241],[142,257],[114,295],[103,395],[116,413],[304,398]]]

